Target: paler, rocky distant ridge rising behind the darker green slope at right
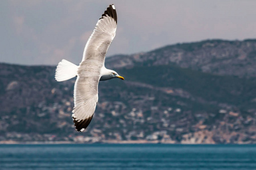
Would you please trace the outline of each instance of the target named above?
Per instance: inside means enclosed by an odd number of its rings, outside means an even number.
[[[206,40],[168,45],[151,52],[131,56],[114,56],[107,62],[112,67],[161,66],[176,64],[216,75],[256,76],[256,40]]]

